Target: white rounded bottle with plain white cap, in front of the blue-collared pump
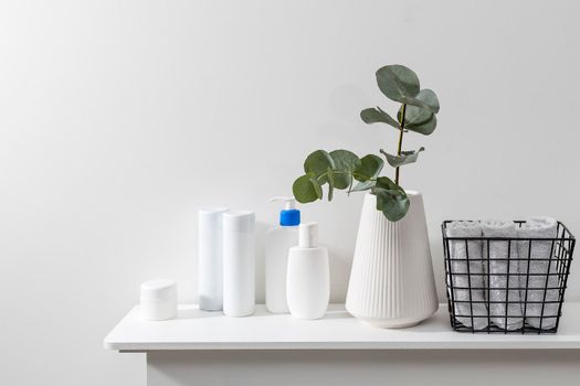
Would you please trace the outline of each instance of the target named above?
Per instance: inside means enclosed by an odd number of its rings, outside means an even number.
[[[297,319],[323,318],[330,298],[328,250],[318,246],[318,224],[299,226],[298,246],[289,249],[286,293]]]

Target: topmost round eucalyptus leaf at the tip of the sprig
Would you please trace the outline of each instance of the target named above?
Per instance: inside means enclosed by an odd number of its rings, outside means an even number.
[[[405,98],[419,94],[420,85],[416,74],[402,65],[394,64],[377,71],[377,84],[389,99],[404,103]]]

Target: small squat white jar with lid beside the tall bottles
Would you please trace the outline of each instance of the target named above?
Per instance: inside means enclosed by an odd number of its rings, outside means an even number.
[[[141,318],[167,320],[177,317],[177,283],[173,280],[157,279],[141,285]]]

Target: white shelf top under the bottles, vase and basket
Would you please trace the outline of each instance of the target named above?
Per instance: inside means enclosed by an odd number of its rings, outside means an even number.
[[[246,318],[204,312],[197,305],[179,308],[175,320],[148,322],[139,307],[105,337],[108,350],[453,350],[453,349],[580,349],[580,303],[565,303],[557,334],[472,334],[451,330],[447,305],[420,325],[384,330],[366,325],[331,304],[324,319],[295,320],[271,314],[264,305]]]

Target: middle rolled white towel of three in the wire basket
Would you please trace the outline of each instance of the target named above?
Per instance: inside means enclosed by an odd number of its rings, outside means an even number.
[[[517,237],[516,224],[513,221],[488,219],[483,222],[482,226],[484,237]],[[487,247],[489,247],[488,250]],[[489,314],[492,322],[500,329],[521,329],[524,318],[519,290],[517,289],[519,287],[517,243],[485,240],[484,256],[489,257]],[[509,280],[506,274],[509,274]],[[516,289],[506,290],[508,285],[509,288]],[[509,315],[507,319],[506,311]]]

